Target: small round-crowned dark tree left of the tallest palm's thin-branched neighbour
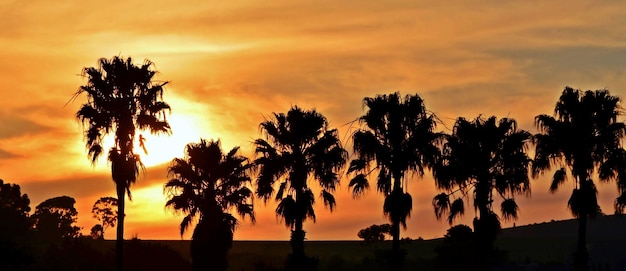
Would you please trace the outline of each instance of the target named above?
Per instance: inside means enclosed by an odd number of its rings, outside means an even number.
[[[74,225],[78,217],[75,203],[72,197],[60,196],[37,205],[32,218],[40,237],[49,241],[79,237],[80,228]]]

